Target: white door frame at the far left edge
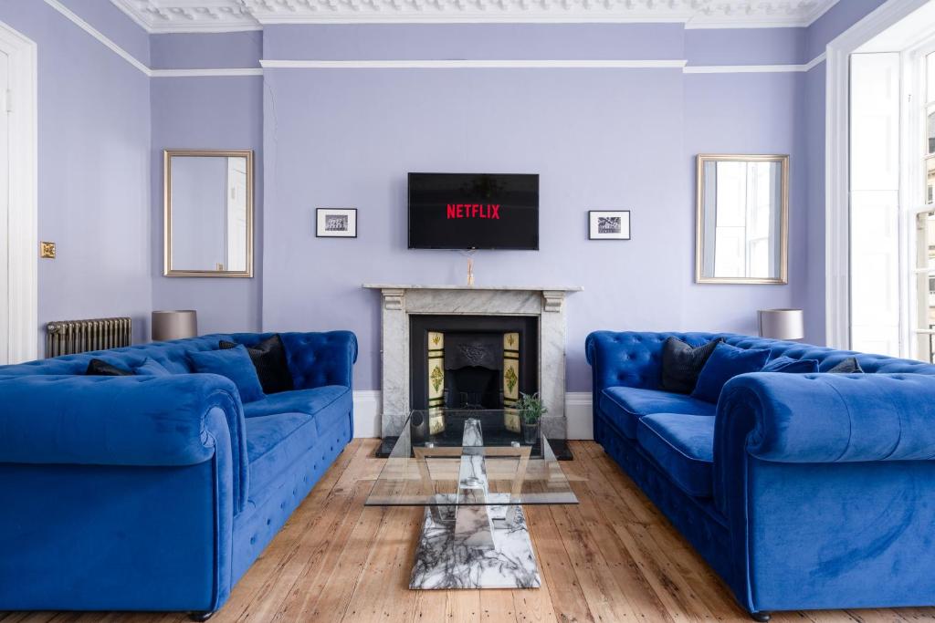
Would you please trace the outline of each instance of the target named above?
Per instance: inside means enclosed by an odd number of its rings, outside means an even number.
[[[0,21],[9,57],[9,328],[7,361],[34,360],[38,332],[38,179],[36,43]],[[4,94],[6,95],[6,94]],[[7,97],[0,98],[7,101]]]

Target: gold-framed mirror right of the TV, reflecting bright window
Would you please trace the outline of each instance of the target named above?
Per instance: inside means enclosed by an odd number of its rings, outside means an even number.
[[[788,156],[698,156],[698,283],[786,283]]]

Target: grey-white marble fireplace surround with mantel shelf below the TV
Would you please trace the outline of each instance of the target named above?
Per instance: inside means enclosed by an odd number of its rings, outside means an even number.
[[[565,439],[565,297],[580,286],[427,286],[365,283],[381,292],[381,435],[396,436],[410,411],[410,315],[539,318],[539,394],[547,437]]]

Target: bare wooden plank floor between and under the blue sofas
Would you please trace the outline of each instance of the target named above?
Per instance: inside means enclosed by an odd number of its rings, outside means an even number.
[[[593,442],[562,462],[581,503],[526,507],[543,587],[409,590],[420,508],[365,507],[382,460],[354,440],[253,563],[212,623],[232,621],[749,621],[668,521]],[[21,621],[187,617],[0,614]],[[774,621],[935,620],[935,608],[780,613]]]

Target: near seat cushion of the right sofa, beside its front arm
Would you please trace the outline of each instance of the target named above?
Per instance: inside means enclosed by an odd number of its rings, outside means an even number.
[[[714,417],[656,413],[640,419],[637,439],[679,488],[712,496]]]

